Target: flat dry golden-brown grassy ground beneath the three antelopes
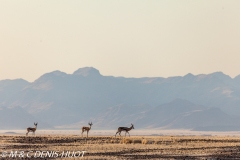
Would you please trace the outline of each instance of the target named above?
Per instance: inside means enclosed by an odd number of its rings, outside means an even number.
[[[11,151],[24,151],[26,159],[29,151],[32,151],[32,157],[37,151],[86,151],[83,157],[61,158],[58,155],[46,159],[240,159],[240,138],[132,136],[124,140],[110,136],[90,136],[86,139],[79,135],[0,135],[0,159],[14,159],[9,155],[1,158],[3,152]]]

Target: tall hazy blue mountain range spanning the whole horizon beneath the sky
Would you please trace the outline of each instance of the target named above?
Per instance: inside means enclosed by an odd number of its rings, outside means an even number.
[[[98,128],[132,122],[140,128],[236,130],[239,104],[240,75],[231,78],[222,72],[124,78],[85,67],[73,74],[46,73],[32,83],[0,81],[1,108],[20,106],[35,119],[66,128],[94,120]],[[204,124],[210,120],[212,124]]]

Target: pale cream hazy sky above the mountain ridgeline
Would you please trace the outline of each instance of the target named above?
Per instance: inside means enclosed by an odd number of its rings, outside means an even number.
[[[240,74],[238,0],[2,0],[0,79]]]

